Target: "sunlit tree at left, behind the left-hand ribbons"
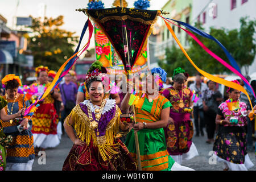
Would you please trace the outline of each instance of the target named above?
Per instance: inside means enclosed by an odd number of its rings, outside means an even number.
[[[73,55],[73,46],[78,42],[75,32],[61,29],[63,16],[57,18],[32,18],[33,35],[28,37],[28,48],[34,55],[35,67],[48,66],[58,70]]]

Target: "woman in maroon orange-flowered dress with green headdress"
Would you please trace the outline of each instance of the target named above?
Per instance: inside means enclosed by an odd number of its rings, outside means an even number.
[[[174,70],[172,80],[174,85],[163,91],[172,104],[168,126],[165,129],[167,150],[175,162],[192,159],[199,155],[193,138],[193,122],[190,119],[192,112],[192,92],[184,86],[187,77],[181,68]]]

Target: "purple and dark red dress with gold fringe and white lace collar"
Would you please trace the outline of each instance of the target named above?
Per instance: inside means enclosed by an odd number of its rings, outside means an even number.
[[[93,129],[89,119],[88,108],[96,121],[96,109],[90,100],[76,105],[68,115],[73,120],[77,137],[84,141],[84,146],[73,145],[63,164],[63,171],[134,171],[136,163],[129,150],[120,139],[115,138],[119,130],[121,111],[115,100],[106,100],[106,104],[98,121],[97,129]]]

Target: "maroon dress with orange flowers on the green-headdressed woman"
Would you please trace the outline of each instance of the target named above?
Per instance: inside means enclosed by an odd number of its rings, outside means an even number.
[[[183,155],[187,153],[192,145],[193,123],[190,119],[190,113],[185,109],[190,105],[192,92],[189,88],[175,90],[170,87],[163,91],[172,104],[170,117],[174,123],[167,125],[165,129],[167,150],[170,155]]]

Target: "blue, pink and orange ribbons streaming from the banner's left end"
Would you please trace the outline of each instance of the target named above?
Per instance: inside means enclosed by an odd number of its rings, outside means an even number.
[[[81,44],[81,40],[82,40],[82,37],[84,36],[85,34],[85,31],[87,29],[87,27],[89,26],[89,40],[88,42],[85,44],[85,46],[80,50],[78,51],[79,47],[80,47],[80,44]],[[33,104],[31,104],[29,107],[27,107],[24,115],[31,115],[29,113],[31,113],[31,110],[35,110],[34,108],[36,107],[37,103],[41,100],[43,100],[50,92],[51,90],[53,90],[55,88],[55,86],[57,84],[59,84],[59,82],[62,80],[62,78],[68,73],[68,71],[72,68],[73,64],[75,64],[76,60],[78,59],[78,57],[81,55],[82,52],[86,51],[86,49],[89,47],[90,45],[90,39],[92,38],[92,34],[93,34],[93,25],[92,23],[90,22],[90,20],[88,19],[87,22],[85,23],[85,26],[82,30],[82,34],[81,34],[81,38],[80,38],[80,42],[76,48],[76,51],[74,52],[74,54],[69,57],[69,59],[67,61],[65,61],[65,63],[63,65],[61,65],[59,71],[56,73],[56,76],[55,78],[53,79],[51,85],[48,86],[48,88],[46,89],[46,92],[44,92],[44,94],[42,94],[42,96],[40,96],[38,98],[38,100],[36,102],[34,102]],[[81,52],[82,51],[82,52]],[[75,57],[79,52],[80,55],[78,57]],[[75,59],[75,60],[74,60]],[[65,67],[67,65],[67,67]],[[64,69],[65,68],[65,69]],[[64,69],[64,72],[63,72],[63,69]],[[63,72],[63,74],[60,76],[61,72]]]

